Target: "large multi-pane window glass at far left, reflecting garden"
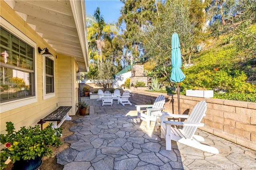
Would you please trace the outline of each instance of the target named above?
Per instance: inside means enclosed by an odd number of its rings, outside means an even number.
[[[34,47],[2,25],[0,29],[0,103],[34,97]]]

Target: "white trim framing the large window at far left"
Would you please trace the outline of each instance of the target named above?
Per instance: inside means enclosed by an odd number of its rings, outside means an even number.
[[[25,34],[23,34],[20,30],[18,30],[16,27],[14,27],[12,24],[10,24],[8,21],[6,21],[4,18],[0,18],[0,26],[2,26],[3,28],[5,28],[6,30],[8,30],[10,33],[14,34],[15,36],[17,36],[20,40],[28,43],[29,45],[31,45],[34,48],[34,85],[35,85],[35,96],[34,97],[28,97],[28,98],[24,98],[24,99],[17,99],[14,101],[8,101],[8,102],[4,102],[4,103],[0,103],[0,113],[6,112],[6,111],[10,111],[12,109],[16,109],[22,106],[26,106],[32,103],[36,103],[37,102],[37,73],[36,73],[36,69],[37,69],[37,58],[36,58],[36,43],[33,42],[30,38],[28,38]]]

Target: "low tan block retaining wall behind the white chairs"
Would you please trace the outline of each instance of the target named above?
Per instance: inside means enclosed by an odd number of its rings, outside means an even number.
[[[132,91],[130,101],[138,105],[152,104],[158,95],[166,98],[165,111],[178,114],[177,95]],[[190,114],[202,100],[206,101],[207,110],[201,130],[256,150],[256,103],[180,95],[180,113]]]

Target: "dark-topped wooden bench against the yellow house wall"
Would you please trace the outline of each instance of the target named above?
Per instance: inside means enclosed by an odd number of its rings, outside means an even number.
[[[70,121],[71,117],[68,116],[68,111],[72,108],[72,106],[60,106],[58,109],[50,113],[43,120],[48,121],[49,123],[53,123],[52,128],[59,128],[64,121]],[[60,121],[60,123],[57,122]]]

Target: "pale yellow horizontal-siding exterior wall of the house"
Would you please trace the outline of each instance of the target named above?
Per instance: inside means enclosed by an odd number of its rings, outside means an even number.
[[[26,22],[16,14],[4,1],[0,1],[0,15],[12,26],[36,43],[35,47],[35,77],[37,101],[16,109],[0,112],[0,131],[5,133],[6,122],[12,121],[16,130],[22,126],[36,125],[40,119],[57,109],[58,106],[72,106],[69,115],[76,111],[75,103],[78,95],[76,70],[78,65],[73,57],[58,54],[46,43]],[[2,20],[1,20],[2,23]],[[54,91],[55,96],[43,99],[43,63],[42,55],[37,52],[38,47],[47,47],[54,56]],[[57,57],[56,57],[57,56]],[[1,107],[4,103],[1,103]]]

